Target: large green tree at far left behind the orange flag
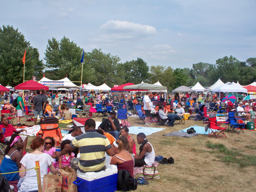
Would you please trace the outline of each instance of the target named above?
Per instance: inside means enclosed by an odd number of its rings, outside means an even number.
[[[3,26],[0,28],[0,82],[2,85],[16,86],[23,82],[22,62],[26,49],[25,81],[32,76],[42,77],[43,61],[39,60],[38,49],[33,48],[18,28]]]

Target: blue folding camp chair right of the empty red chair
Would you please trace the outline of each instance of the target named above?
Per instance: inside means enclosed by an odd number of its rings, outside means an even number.
[[[245,119],[245,118],[242,118],[242,119],[238,119],[238,118],[235,118],[235,113],[234,111],[232,112],[229,112],[229,128],[228,128],[228,131],[234,131],[236,133],[240,133],[240,132],[243,132],[243,128],[245,127],[245,123],[242,122],[242,120]]]

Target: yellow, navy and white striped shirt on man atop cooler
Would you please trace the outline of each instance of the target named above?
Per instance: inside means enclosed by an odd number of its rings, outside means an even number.
[[[96,172],[105,168],[105,151],[112,148],[106,136],[95,130],[76,136],[71,143],[74,149],[79,148],[79,169],[82,172]]]

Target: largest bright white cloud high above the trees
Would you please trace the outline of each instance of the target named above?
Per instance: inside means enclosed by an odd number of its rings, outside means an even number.
[[[109,20],[100,29],[111,39],[137,39],[157,33],[153,26],[122,20]]]

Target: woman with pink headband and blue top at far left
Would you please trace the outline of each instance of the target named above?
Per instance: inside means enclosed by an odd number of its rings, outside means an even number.
[[[0,168],[1,173],[16,172],[20,169],[20,160],[23,156],[19,150],[23,149],[23,147],[24,143],[22,138],[18,134],[14,133],[11,136],[9,145],[5,149],[5,157],[3,157]],[[6,177],[10,185],[14,186],[14,192],[17,192],[17,184],[20,178],[19,173],[3,174],[3,176]]]

